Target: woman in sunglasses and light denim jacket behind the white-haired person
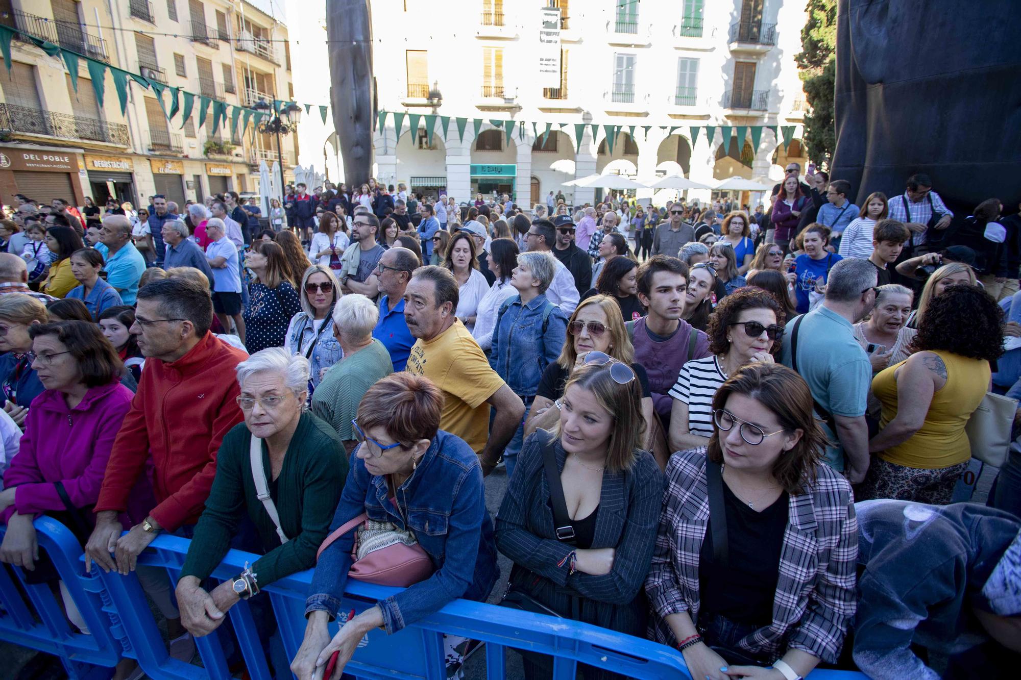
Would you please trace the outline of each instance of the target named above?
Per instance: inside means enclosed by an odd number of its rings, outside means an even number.
[[[333,270],[323,264],[312,264],[305,270],[301,279],[301,311],[291,317],[284,349],[308,359],[311,367],[309,396],[327,370],[344,358],[330,321],[338,299],[340,284]]]

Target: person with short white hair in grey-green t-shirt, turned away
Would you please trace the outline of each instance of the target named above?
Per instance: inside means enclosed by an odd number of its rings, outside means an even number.
[[[389,251],[387,251],[389,252]],[[312,412],[333,426],[350,453],[357,443],[351,421],[376,381],[393,373],[386,346],[373,337],[380,310],[364,295],[344,295],[333,307],[333,334],[344,358],[333,365],[312,394]]]

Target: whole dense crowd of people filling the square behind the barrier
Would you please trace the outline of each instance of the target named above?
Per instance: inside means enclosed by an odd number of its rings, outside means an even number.
[[[1001,677],[1018,460],[988,506],[953,501],[972,414],[1021,395],[1021,216],[958,220],[924,175],[859,208],[799,174],[755,211],[375,180],[288,187],[264,217],[234,193],[183,212],[19,196],[0,561],[87,633],[33,526],[60,520],[87,569],[137,572],[184,661],[240,599],[270,644],[259,592],[314,568],[301,680],[500,581],[503,606],[673,646],[699,679]],[[177,583],[138,563],[161,533],[192,539]],[[231,547],[255,562],[215,585]],[[348,578],[405,588],[349,616]],[[445,646],[452,673],[479,645]]]

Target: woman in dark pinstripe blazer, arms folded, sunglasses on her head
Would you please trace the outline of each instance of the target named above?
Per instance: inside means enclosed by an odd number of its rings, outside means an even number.
[[[496,544],[515,563],[512,592],[565,618],[644,636],[648,606],[640,591],[664,477],[638,448],[644,421],[634,372],[605,358],[575,369],[556,402],[553,432],[537,430],[526,440],[496,518]],[[553,521],[544,448],[560,472],[567,531]],[[526,658],[525,676],[548,676],[543,661]],[[586,678],[618,677],[582,668]]]

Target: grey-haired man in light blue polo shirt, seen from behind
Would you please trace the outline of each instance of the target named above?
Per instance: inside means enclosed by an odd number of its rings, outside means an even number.
[[[852,484],[869,469],[869,426],[865,422],[872,363],[855,338],[855,324],[876,304],[876,268],[867,259],[841,259],[830,270],[826,298],[812,311],[787,322],[781,350],[784,366],[812,390],[815,411],[825,426],[825,463]]]

